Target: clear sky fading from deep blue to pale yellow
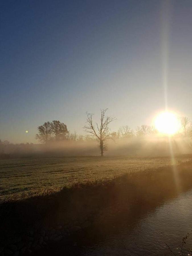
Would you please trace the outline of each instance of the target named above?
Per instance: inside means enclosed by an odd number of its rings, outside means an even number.
[[[0,139],[37,143],[52,120],[83,134],[100,108],[112,131],[192,118],[191,17],[191,0],[1,1]]]

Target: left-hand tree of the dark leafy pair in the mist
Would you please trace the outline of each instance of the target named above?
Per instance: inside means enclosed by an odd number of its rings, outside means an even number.
[[[51,138],[51,123],[45,122],[43,125],[38,126],[38,133],[36,134],[35,138],[41,143],[47,143]]]

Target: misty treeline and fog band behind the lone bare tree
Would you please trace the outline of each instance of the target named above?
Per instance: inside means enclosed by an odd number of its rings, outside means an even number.
[[[175,154],[191,153],[192,123],[187,117],[181,117],[182,129],[171,137],[172,150]],[[88,126],[86,126],[88,127]],[[92,131],[92,130],[90,130]],[[117,131],[107,130],[107,156],[139,156],[170,154],[170,139],[158,136],[154,127],[141,125],[133,130],[128,125]],[[45,122],[38,127],[36,139],[40,144],[13,144],[0,140],[0,158],[32,155],[51,156],[94,156],[99,155],[100,144],[96,136],[71,133],[67,125],[58,120]],[[104,150],[107,150],[104,145]],[[99,149],[100,148],[100,149]]]

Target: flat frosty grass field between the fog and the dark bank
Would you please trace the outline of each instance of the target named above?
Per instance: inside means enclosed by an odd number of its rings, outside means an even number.
[[[110,179],[129,171],[143,171],[178,164],[191,156],[144,157],[49,157],[0,161],[0,199],[30,197],[43,191],[59,190],[75,182]]]

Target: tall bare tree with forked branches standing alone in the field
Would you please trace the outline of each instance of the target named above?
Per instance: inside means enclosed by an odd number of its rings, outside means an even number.
[[[107,110],[108,108],[100,110],[101,111],[100,124],[96,123],[96,128],[95,128],[95,125],[93,124],[93,114],[86,112],[87,125],[83,127],[85,129],[84,131],[88,134],[88,136],[93,136],[97,138],[99,142],[99,148],[101,150],[101,156],[103,156],[104,151],[107,149],[106,141],[108,139],[113,139],[111,136],[112,133],[110,133],[109,125],[111,122],[116,120],[115,117],[106,116]]]

